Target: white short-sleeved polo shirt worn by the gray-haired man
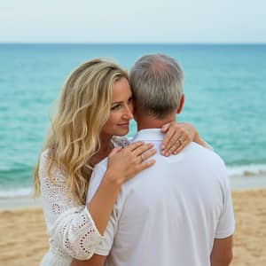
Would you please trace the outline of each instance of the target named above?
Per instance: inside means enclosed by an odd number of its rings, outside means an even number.
[[[153,143],[156,163],[121,186],[96,254],[107,266],[207,266],[214,239],[234,231],[231,189],[223,160],[195,143],[163,157],[160,129],[134,141]],[[96,166],[87,200],[98,189],[107,160]],[[100,210],[99,210],[100,211]]]

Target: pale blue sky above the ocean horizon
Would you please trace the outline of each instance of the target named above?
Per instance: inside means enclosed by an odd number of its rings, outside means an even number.
[[[266,43],[266,1],[0,0],[0,43]]]

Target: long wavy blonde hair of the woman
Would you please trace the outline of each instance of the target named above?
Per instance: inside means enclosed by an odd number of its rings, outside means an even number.
[[[59,106],[47,135],[47,173],[56,166],[67,176],[66,185],[78,203],[85,204],[92,167],[90,158],[100,148],[100,131],[111,108],[113,83],[128,74],[111,61],[92,59],[78,66],[66,79]],[[35,196],[40,194],[39,160],[34,170]]]

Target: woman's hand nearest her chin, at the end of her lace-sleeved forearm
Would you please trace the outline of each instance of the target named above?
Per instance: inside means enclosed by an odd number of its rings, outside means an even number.
[[[155,160],[147,160],[156,153],[153,144],[138,141],[125,148],[114,148],[108,155],[107,172],[118,184],[151,167]]]

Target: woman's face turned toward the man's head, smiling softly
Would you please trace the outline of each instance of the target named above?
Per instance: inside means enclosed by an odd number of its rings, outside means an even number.
[[[129,121],[133,118],[133,99],[129,82],[121,78],[113,84],[111,112],[102,133],[108,136],[124,136],[129,132]]]

